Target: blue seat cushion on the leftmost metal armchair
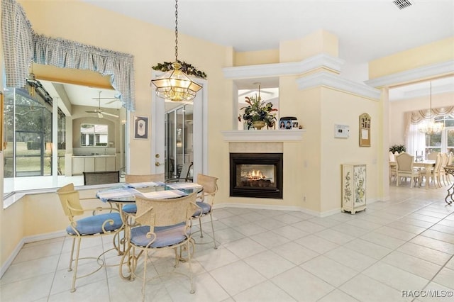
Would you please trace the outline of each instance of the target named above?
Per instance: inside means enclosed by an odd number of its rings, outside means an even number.
[[[76,230],[79,232],[80,235],[94,235],[103,233],[102,224],[106,220],[113,220],[114,223],[111,224],[107,222],[104,225],[104,229],[106,232],[111,232],[113,230],[118,230],[123,225],[123,221],[121,221],[121,217],[119,213],[106,213],[106,214],[99,214],[94,216],[89,216],[86,218],[82,218],[77,220]],[[69,235],[77,235],[74,232],[74,229],[71,225],[66,228],[66,232]]]

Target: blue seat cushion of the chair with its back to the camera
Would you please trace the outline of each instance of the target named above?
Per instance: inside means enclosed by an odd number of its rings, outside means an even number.
[[[170,225],[165,227],[155,228],[156,240],[150,247],[168,247],[176,245],[187,239],[184,236],[184,227],[186,223],[178,223],[177,225]],[[140,226],[131,229],[131,243],[138,247],[145,247],[153,240],[153,237],[147,238],[147,233],[150,231],[148,225]],[[191,235],[190,228],[187,230],[187,235]]]

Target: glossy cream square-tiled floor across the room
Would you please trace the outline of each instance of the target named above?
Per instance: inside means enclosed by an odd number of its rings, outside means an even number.
[[[454,301],[454,206],[446,190],[390,190],[390,201],[355,215],[218,209],[218,250],[196,245],[196,293],[175,277],[148,284],[146,301]],[[107,237],[87,240],[82,253],[110,246]],[[70,293],[69,251],[65,237],[25,245],[0,280],[0,300],[140,301],[141,280],[124,281],[118,267],[80,279]],[[170,258],[156,259],[155,269],[170,267]]]

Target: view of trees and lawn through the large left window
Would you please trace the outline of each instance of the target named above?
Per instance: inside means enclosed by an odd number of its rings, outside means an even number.
[[[52,98],[36,89],[31,97],[27,89],[4,91],[4,194],[34,189],[38,179],[18,181],[22,177],[52,177],[65,171],[65,115],[59,111],[52,127]],[[52,133],[57,131],[57,160],[52,157]],[[35,183],[35,184],[33,184]],[[50,187],[51,184],[44,187]],[[43,186],[41,186],[43,187]]]

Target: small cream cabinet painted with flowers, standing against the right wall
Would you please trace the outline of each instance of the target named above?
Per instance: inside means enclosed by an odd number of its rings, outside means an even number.
[[[355,214],[366,208],[366,165],[342,165],[342,211]]]

